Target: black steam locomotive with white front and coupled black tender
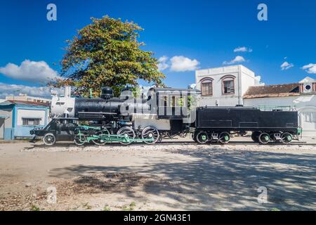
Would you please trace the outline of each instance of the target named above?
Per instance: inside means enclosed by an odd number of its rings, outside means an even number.
[[[74,140],[77,145],[93,142],[148,144],[175,136],[192,135],[197,143],[228,143],[232,134],[251,131],[253,141],[289,143],[301,134],[296,111],[261,111],[248,107],[197,107],[195,89],[149,89],[135,98],[125,89],[119,98],[105,87],[99,98],[73,98],[70,87],[51,102],[51,122],[34,129],[34,140],[43,137],[48,146]]]

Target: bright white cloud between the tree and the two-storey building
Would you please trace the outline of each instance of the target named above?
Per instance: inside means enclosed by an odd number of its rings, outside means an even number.
[[[170,61],[171,61],[171,71],[175,71],[175,72],[197,70],[197,66],[199,65],[198,60],[196,59],[191,60],[190,58],[186,58],[184,56],[173,56]]]

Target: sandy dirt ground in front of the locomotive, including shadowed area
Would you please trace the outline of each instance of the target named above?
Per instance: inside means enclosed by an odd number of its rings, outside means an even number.
[[[316,210],[316,146],[0,143],[0,210]]]

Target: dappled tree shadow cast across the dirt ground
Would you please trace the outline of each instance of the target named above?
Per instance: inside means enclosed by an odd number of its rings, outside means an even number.
[[[220,148],[177,153],[190,155],[192,162],[148,156],[141,167],[74,165],[53,169],[51,176],[77,176],[77,184],[131,197],[139,197],[131,189],[141,186],[157,196],[156,203],[183,210],[316,209],[316,155]],[[109,176],[117,179],[109,183]],[[267,188],[267,204],[257,201],[259,187]],[[175,200],[174,205],[166,198]]]

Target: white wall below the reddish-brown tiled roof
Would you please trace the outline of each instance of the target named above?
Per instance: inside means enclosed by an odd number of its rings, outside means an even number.
[[[316,117],[310,120],[310,113],[316,116],[316,96],[301,95],[272,98],[245,98],[245,106],[293,105],[298,110],[299,122],[303,127],[303,136],[316,136]],[[309,121],[306,121],[308,120]]]

